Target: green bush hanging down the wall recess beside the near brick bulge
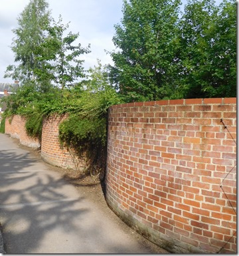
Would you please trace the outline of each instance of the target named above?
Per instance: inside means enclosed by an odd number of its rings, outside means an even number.
[[[77,114],[64,120],[59,127],[62,146],[73,148],[86,162],[86,174],[104,172],[106,168],[106,118],[81,118]]]

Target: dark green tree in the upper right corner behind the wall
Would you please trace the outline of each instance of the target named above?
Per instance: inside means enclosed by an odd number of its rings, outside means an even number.
[[[183,96],[236,96],[236,3],[191,0],[180,27]]]

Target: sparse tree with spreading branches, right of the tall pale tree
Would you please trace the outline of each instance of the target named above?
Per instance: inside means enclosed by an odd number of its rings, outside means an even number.
[[[79,77],[85,76],[82,66],[84,61],[78,57],[90,53],[90,45],[86,48],[80,43],[72,45],[78,39],[79,33],[70,32],[64,37],[64,31],[69,25],[62,25],[61,22],[60,17],[58,23],[54,21],[53,25],[46,27],[48,35],[36,49],[37,59],[42,65],[35,68],[34,72],[40,80],[48,78],[64,89],[65,86],[73,86]]]

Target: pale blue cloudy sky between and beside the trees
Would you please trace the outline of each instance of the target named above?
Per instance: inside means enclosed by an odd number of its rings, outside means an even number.
[[[3,78],[9,64],[14,63],[11,43],[18,27],[17,17],[25,9],[29,0],[0,0],[0,82],[13,82],[12,78]],[[114,25],[120,23],[123,0],[48,0],[51,16],[62,23],[70,22],[68,32],[80,33],[78,38],[82,47],[90,44],[91,53],[84,55],[84,67],[102,64],[113,64],[106,51],[115,49],[112,38],[115,34]]]

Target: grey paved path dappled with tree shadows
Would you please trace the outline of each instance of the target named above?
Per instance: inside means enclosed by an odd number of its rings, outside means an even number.
[[[0,223],[11,254],[155,253],[5,134],[0,134]],[[1,243],[0,234],[0,253]]]

